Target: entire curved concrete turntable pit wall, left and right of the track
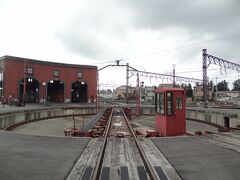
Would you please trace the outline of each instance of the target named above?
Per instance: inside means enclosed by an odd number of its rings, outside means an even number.
[[[131,107],[132,112],[136,112],[135,107]],[[57,118],[63,116],[75,115],[93,115],[96,114],[96,108],[94,107],[84,107],[84,108],[58,108],[50,110],[34,110],[25,111],[18,113],[11,113],[7,115],[0,116],[0,129],[6,129],[15,124],[27,123],[31,121],[37,121],[42,119]],[[141,115],[154,115],[154,107],[143,107],[140,112]],[[200,110],[187,110],[186,118],[202,121],[204,123],[209,123],[221,127],[225,127],[229,124],[230,128],[236,128],[240,125],[240,114],[238,115],[227,115],[212,112],[205,112]],[[229,121],[229,123],[226,123]]]

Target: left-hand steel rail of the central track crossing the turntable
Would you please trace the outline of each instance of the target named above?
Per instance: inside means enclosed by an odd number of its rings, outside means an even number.
[[[100,173],[101,173],[101,169],[102,169],[102,163],[103,163],[103,158],[104,158],[104,153],[105,153],[105,149],[107,146],[107,137],[108,137],[108,132],[110,129],[110,125],[111,125],[111,120],[112,120],[112,116],[113,116],[113,109],[114,107],[111,109],[111,113],[110,116],[108,118],[108,122],[107,122],[107,126],[106,129],[104,131],[104,135],[103,135],[103,144],[101,147],[101,151],[100,151],[100,155],[98,156],[98,160],[96,163],[96,166],[94,167],[91,179],[93,180],[98,180],[100,177]]]

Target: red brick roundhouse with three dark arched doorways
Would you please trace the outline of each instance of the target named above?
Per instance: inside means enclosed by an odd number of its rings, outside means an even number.
[[[93,101],[97,96],[97,66],[3,56],[0,93],[2,99],[20,103]]]

